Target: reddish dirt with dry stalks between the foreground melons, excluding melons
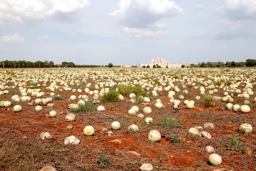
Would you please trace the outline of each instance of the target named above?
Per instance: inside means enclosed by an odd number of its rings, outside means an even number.
[[[49,85],[49,83],[48,83]],[[92,85],[94,87],[94,84]],[[74,86],[76,88],[76,86]],[[82,86],[81,88],[84,89]],[[177,93],[177,96],[182,94]],[[188,89],[189,96],[185,99],[193,100],[198,90]],[[46,97],[49,91],[44,90]],[[152,90],[150,90],[151,92]],[[224,91],[219,91],[218,96],[223,97]],[[253,92],[256,92],[253,89]],[[152,109],[151,114],[144,114],[144,117],[152,117],[154,124],[145,125],[143,118],[136,116],[129,117],[128,110],[136,105],[139,113],[146,104],[131,104],[129,98],[116,103],[100,102],[105,111],[78,112],[76,120],[68,123],[65,115],[70,112],[67,106],[71,95],[84,93],[58,92],[64,95],[64,100],[53,100],[54,107],[43,106],[41,112],[35,112],[35,106],[28,106],[27,102],[19,102],[23,110],[14,113],[12,108],[0,108],[0,170],[3,171],[37,171],[44,166],[53,166],[63,171],[132,171],[139,170],[143,163],[150,163],[157,170],[192,170],[203,171],[215,168],[226,170],[256,170],[256,109],[255,102],[252,102],[251,112],[248,114],[233,113],[225,109],[226,103],[220,102],[213,108],[205,108],[202,101],[195,101],[195,108],[188,110],[181,105],[181,110],[175,113],[173,104],[169,103],[168,92],[158,93],[164,107],[154,108],[154,100],[147,106]],[[255,93],[256,94],[256,93]],[[10,100],[14,94],[5,94],[1,100]],[[253,98],[255,95],[253,96]],[[91,97],[89,97],[91,98]],[[35,100],[36,97],[31,97]],[[185,100],[184,99],[184,100]],[[98,106],[97,105],[97,106]],[[224,110],[222,111],[223,108]],[[51,110],[56,110],[57,117],[48,116]],[[162,117],[177,117],[182,119],[180,128],[165,129],[158,123]],[[109,136],[106,132],[111,131],[110,125],[113,121],[121,123],[121,129],[112,131]],[[188,129],[195,126],[203,126],[204,123],[214,123],[214,130],[206,130],[211,134],[211,139],[204,137],[193,137],[187,134]],[[238,132],[242,123],[249,123],[253,127],[251,134],[238,134],[236,137],[238,146],[249,147],[252,156],[238,149],[232,138],[232,133]],[[73,128],[66,129],[71,124]],[[128,133],[127,128],[131,124],[139,126],[138,133]],[[92,125],[95,129],[94,136],[84,136],[83,128]],[[103,128],[107,128],[108,131]],[[103,131],[102,131],[103,129]],[[159,143],[147,140],[147,134],[152,129],[157,129],[162,139]],[[53,139],[41,140],[41,132],[47,131]],[[80,140],[78,145],[64,145],[67,136],[74,135]],[[177,135],[179,140],[174,143],[170,137]],[[121,143],[111,142],[118,139]],[[211,166],[208,161],[209,153],[204,147],[211,145],[216,153],[222,157],[219,166]],[[128,151],[138,152],[140,156],[131,155]]]

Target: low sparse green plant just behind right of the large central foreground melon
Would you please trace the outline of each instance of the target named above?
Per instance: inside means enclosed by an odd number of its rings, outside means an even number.
[[[161,117],[160,120],[158,121],[158,124],[165,128],[165,129],[171,129],[171,128],[180,128],[182,123],[182,119],[179,118],[178,116],[173,116],[173,117]]]

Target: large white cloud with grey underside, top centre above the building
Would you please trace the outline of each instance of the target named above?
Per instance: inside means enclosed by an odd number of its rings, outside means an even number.
[[[166,24],[158,21],[183,14],[183,9],[169,0],[120,0],[118,7],[109,15],[116,17],[123,30],[134,38],[161,37],[166,33]]]

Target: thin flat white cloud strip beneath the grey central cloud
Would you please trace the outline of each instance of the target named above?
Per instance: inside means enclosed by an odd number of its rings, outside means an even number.
[[[163,30],[148,30],[144,28],[130,28],[123,27],[123,30],[129,34],[132,38],[160,38],[168,35],[166,31]]]

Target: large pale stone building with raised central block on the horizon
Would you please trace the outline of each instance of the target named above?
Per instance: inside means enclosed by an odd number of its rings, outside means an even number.
[[[166,66],[168,66],[168,68],[181,68],[182,65],[185,65],[185,67],[189,66],[187,63],[167,63],[167,59],[156,57],[151,59],[151,63],[142,63],[138,65],[138,67],[142,68],[143,66],[150,66],[150,68],[153,68],[154,65],[156,67],[161,66],[162,68],[166,68]]]

